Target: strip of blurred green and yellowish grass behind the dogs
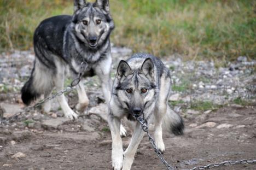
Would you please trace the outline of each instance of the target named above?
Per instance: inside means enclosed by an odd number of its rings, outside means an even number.
[[[111,39],[158,56],[256,58],[255,5],[250,0],[110,0],[116,26]],[[0,1],[0,50],[30,49],[40,21],[72,13],[72,1]]]

